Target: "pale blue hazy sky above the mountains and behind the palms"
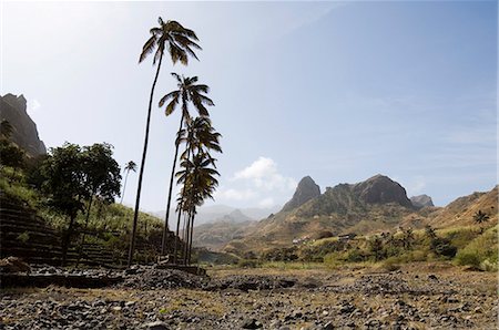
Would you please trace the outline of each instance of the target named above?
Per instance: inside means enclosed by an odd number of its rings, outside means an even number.
[[[444,206],[497,184],[497,1],[1,1],[0,94],[23,94],[48,147],[108,142],[140,164],[155,73],[139,54],[157,17],[194,30],[163,61],[141,208],[165,208],[180,113],[171,72],[211,86],[223,135],[215,202],[275,207],[384,174]],[[138,174],[124,203],[133,205]]]

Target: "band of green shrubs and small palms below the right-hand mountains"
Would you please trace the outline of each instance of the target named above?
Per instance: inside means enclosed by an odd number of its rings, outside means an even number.
[[[387,268],[414,261],[452,260],[456,265],[481,270],[498,269],[498,226],[483,234],[476,227],[435,230],[431,227],[384,233],[353,239],[329,237],[283,248],[264,250],[253,262],[381,262]],[[249,258],[252,259],[252,258]]]

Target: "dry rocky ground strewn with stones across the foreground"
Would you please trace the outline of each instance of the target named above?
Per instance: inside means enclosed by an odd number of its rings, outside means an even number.
[[[103,289],[3,288],[0,329],[497,329],[496,274],[445,265],[119,275]]]

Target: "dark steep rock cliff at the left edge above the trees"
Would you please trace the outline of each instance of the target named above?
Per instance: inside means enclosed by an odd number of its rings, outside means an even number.
[[[0,96],[0,121],[7,120],[12,125],[12,141],[29,156],[47,154],[45,145],[38,136],[34,122],[27,112],[27,101],[23,95],[6,94]]]

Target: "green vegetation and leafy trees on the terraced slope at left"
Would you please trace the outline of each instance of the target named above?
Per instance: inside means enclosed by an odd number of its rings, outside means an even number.
[[[94,145],[95,146],[95,145]],[[105,145],[106,153],[110,151]],[[93,146],[92,146],[93,147]],[[92,151],[92,147],[84,148],[85,151]],[[77,155],[83,153],[81,148],[71,145],[70,147]],[[93,148],[95,151],[95,148]],[[98,153],[99,154],[99,153]],[[105,154],[105,153],[104,153]],[[84,155],[81,155],[82,157]],[[90,156],[95,162],[95,157]],[[99,158],[99,157],[96,157]],[[77,250],[83,244],[96,245],[106,250],[112,251],[115,264],[120,264],[125,257],[125,249],[128,247],[128,239],[130,239],[130,228],[133,218],[133,210],[112,203],[116,192],[120,189],[118,176],[120,173],[119,166],[111,162],[113,169],[106,171],[105,166],[92,166],[90,162],[82,162],[83,158],[78,158],[79,164],[82,167],[93,168],[101,171],[104,175],[95,173],[92,175],[83,175],[83,172],[73,171],[68,163],[63,163],[64,169],[70,169],[68,175],[74,177],[78,173],[82,173],[78,179],[81,179],[80,184],[74,185],[74,188],[79,188],[80,197],[71,202],[71,192],[67,185],[61,181],[64,181],[64,176],[59,176],[59,183],[55,181],[53,190],[50,188],[49,177],[55,179],[57,175],[53,171],[57,169],[53,165],[53,156],[41,157],[40,159],[30,159],[30,163],[23,163],[22,167],[11,167],[2,164],[0,166],[0,192],[1,198],[8,204],[18,205],[19,207],[33,212],[42,219],[45,225],[53,228],[59,233],[62,238],[69,231],[69,224],[72,220],[72,235],[69,240],[70,246]],[[62,159],[62,158],[61,158]],[[111,161],[111,154],[104,157],[104,159]],[[3,158],[2,158],[3,161]],[[69,162],[65,158],[64,162]],[[3,162],[2,162],[3,163]],[[73,164],[74,165],[74,164]],[[51,168],[52,174],[47,173],[47,168]],[[62,169],[62,168],[61,168]],[[83,169],[82,169],[83,171]],[[103,172],[102,172],[103,171]],[[108,177],[105,173],[112,173],[113,177]],[[99,179],[101,177],[101,179]],[[110,182],[106,183],[105,178]],[[92,179],[91,179],[92,178]],[[74,178],[77,179],[77,178]],[[85,186],[85,183],[89,186]],[[100,183],[103,183],[102,185]],[[65,182],[68,184],[68,181]],[[73,183],[74,184],[74,183]],[[104,186],[108,185],[110,189]],[[90,190],[86,190],[90,188]],[[58,193],[60,192],[60,193]],[[106,195],[109,194],[109,195]],[[74,206],[74,208],[69,208]],[[68,212],[74,212],[69,214]],[[138,254],[138,260],[147,261],[153,260],[157,254],[157,247],[160,244],[160,237],[162,233],[162,221],[150,215],[140,214],[140,228],[139,228],[139,241],[141,247]],[[82,235],[85,235],[85,240],[82,239]],[[22,235],[20,235],[22,236]],[[23,243],[30,244],[31,239],[24,235],[22,237]],[[33,241],[33,244],[37,244]]]

